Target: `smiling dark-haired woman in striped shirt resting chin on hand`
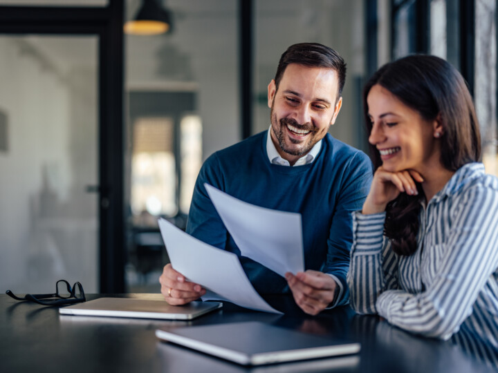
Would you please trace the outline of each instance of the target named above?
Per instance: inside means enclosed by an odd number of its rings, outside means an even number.
[[[442,339],[465,324],[498,345],[498,179],[477,162],[465,81],[413,55],[380,68],[364,104],[376,172],[353,216],[351,305]]]

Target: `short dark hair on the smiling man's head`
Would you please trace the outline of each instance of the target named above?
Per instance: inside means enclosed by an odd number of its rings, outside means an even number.
[[[299,43],[287,48],[280,57],[277,73],[275,74],[275,87],[278,90],[280,80],[284,71],[290,64],[298,64],[309,67],[333,68],[338,74],[339,92],[338,99],[342,94],[344,82],[346,81],[346,64],[338,52],[332,48],[318,43]]]

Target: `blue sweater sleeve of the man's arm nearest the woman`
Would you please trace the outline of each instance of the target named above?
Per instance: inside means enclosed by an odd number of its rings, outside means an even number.
[[[322,269],[324,273],[332,276],[340,287],[333,307],[349,303],[346,278],[349,271],[349,251],[353,242],[351,213],[361,209],[370,189],[371,178],[369,157],[365,153],[356,153],[344,167],[344,178],[327,240],[326,262]]]

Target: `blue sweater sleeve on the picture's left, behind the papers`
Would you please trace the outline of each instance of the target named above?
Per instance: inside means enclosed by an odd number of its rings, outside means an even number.
[[[208,157],[199,171],[187,219],[187,233],[219,249],[225,249],[227,230],[204,187],[208,183],[223,190],[221,173],[216,153]]]

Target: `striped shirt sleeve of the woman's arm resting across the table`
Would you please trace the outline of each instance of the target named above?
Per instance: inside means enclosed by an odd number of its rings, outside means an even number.
[[[483,186],[466,191],[443,242],[448,249],[434,282],[420,294],[385,291],[377,299],[378,314],[425,336],[448,339],[457,332],[498,267],[496,211],[498,191]]]

